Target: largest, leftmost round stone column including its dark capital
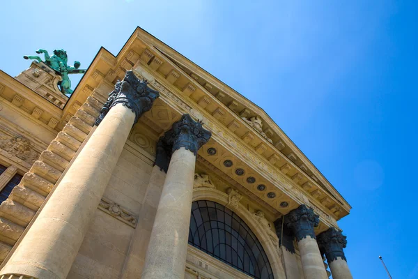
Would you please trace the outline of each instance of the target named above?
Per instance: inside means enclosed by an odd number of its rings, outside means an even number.
[[[97,122],[100,125],[0,275],[67,277],[133,124],[158,96],[132,71],[116,83]]]

